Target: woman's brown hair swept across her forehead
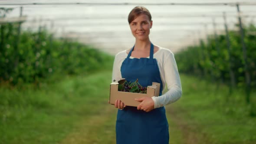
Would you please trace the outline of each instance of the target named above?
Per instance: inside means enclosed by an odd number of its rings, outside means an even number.
[[[142,6],[137,6],[131,10],[131,12],[128,15],[128,23],[130,24],[136,17],[138,17],[141,14],[145,14],[148,16],[149,20],[151,21],[151,14],[148,11],[147,8]]]

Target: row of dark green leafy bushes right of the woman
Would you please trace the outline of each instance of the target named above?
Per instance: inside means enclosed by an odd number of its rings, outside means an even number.
[[[244,28],[247,49],[247,65],[251,85],[256,86],[256,27],[253,24]],[[230,56],[225,35],[209,36],[207,43],[201,41],[200,46],[188,46],[186,50],[176,54],[180,72],[202,75],[206,78],[223,79],[230,82],[230,66],[235,75],[236,86],[245,86],[245,61],[240,33],[229,31]],[[231,62],[230,62],[231,59]]]

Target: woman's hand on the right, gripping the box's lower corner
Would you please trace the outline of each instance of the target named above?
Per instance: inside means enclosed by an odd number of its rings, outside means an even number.
[[[137,107],[138,110],[143,110],[148,112],[154,109],[154,101],[152,98],[148,98],[148,97],[135,98],[135,101],[141,102]]]

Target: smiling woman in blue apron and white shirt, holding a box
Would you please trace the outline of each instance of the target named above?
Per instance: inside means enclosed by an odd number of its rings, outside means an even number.
[[[125,78],[128,82],[146,87],[152,82],[161,84],[160,96],[136,99],[138,107],[115,101],[117,144],[169,144],[168,122],[164,106],[181,98],[181,80],[174,54],[149,39],[151,14],[145,7],[135,7],[128,16],[135,45],[115,56],[112,81]],[[162,95],[167,85],[168,91]]]

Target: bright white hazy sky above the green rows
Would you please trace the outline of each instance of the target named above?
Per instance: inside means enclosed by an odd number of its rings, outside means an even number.
[[[7,17],[19,16],[20,5],[7,3],[254,3],[256,0],[0,0],[0,7],[13,7]],[[127,16],[135,5],[23,5],[23,15],[28,16],[28,27],[38,29],[45,25],[56,36],[73,36],[83,43],[115,55],[133,46]],[[217,23],[217,33],[224,29],[222,13],[226,12],[230,29],[237,23],[235,6],[181,6],[143,5],[151,12],[153,27],[152,43],[177,52],[183,47],[198,41],[199,37],[213,33],[213,15]],[[241,5],[244,23],[254,21],[256,5]],[[207,17],[200,17],[200,15]],[[191,17],[198,16],[199,17]],[[51,27],[51,22],[54,26]],[[207,23],[205,26],[200,23]],[[72,33],[72,34],[71,34]]]

